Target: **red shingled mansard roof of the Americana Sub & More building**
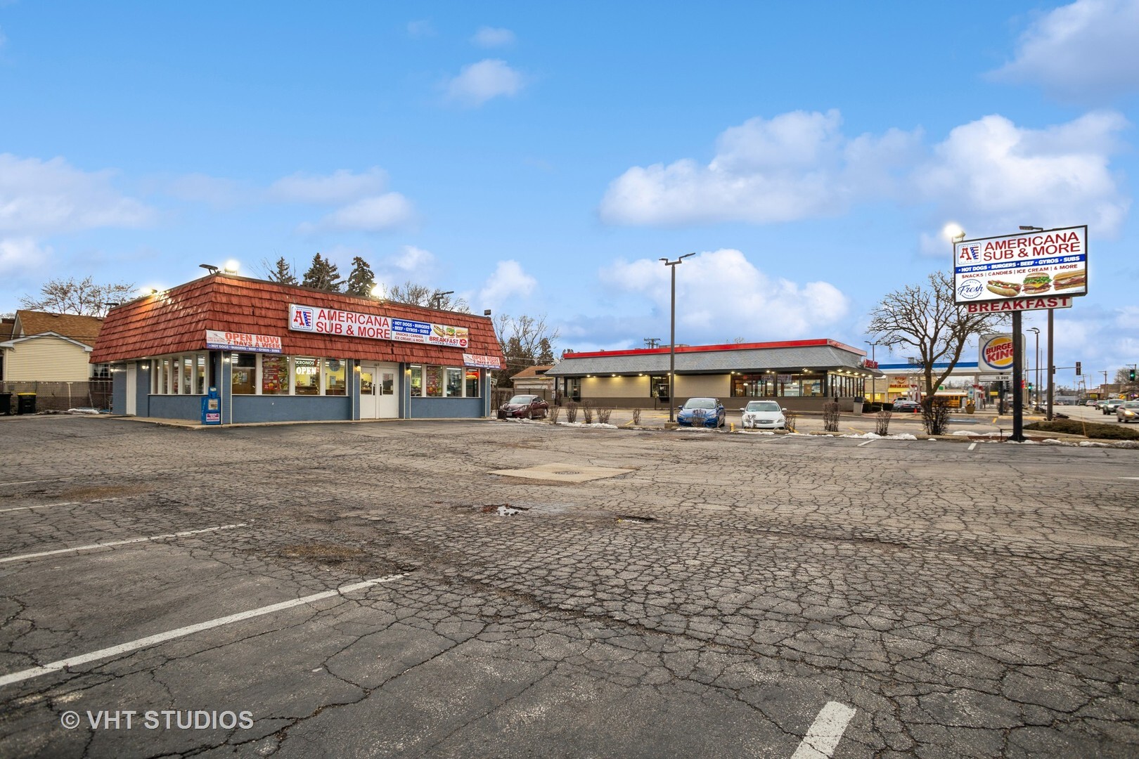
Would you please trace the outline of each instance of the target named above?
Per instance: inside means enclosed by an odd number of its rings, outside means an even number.
[[[436,345],[372,340],[294,332],[288,306],[300,305],[383,314],[395,319],[466,327],[469,345]],[[502,349],[486,316],[437,311],[402,303],[292,287],[227,274],[210,274],[155,296],[113,308],[91,352],[92,363],[129,361],[183,350],[205,350],[206,330],[269,335],[281,338],[285,355],[402,361],[461,365],[464,353],[495,356]]]

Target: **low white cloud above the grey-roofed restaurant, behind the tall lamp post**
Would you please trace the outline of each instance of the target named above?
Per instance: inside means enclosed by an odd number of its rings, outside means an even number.
[[[617,261],[600,277],[669,313],[671,272],[659,261]],[[850,305],[829,282],[772,279],[739,250],[702,253],[677,267],[678,343],[820,337],[846,319]]]

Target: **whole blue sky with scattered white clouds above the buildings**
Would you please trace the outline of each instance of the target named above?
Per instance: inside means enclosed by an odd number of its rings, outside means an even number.
[[[321,251],[642,347],[658,258],[696,253],[679,343],[865,348],[884,294],[951,269],[947,224],[1088,224],[1056,363],[1114,373],[1137,105],[1139,0],[0,1],[0,311]]]

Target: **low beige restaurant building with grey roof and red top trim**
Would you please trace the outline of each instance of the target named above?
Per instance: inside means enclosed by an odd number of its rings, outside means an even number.
[[[547,377],[557,378],[559,398],[597,406],[666,409],[670,350],[566,352]],[[866,352],[836,340],[785,340],[686,345],[675,349],[675,398],[778,399],[785,409],[821,411],[838,398],[843,411],[861,411],[867,380],[884,377]]]

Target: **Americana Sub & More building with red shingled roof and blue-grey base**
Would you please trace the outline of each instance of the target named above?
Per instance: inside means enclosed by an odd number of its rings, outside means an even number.
[[[214,273],[112,308],[90,361],[115,414],[230,424],[490,416],[502,352],[489,315]]]

